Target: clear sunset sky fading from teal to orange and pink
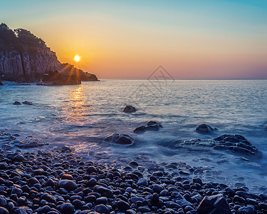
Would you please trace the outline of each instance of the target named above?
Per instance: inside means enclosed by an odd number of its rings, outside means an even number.
[[[0,0],[62,62],[98,78],[267,78],[266,0]],[[73,57],[78,54],[80,61]]]

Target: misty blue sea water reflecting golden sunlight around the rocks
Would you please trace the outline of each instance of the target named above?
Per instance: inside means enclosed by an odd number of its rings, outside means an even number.
[[[88,158],[103,160],[185,162],[203,166],[204,180],[251,191],[267,190],[267,80],[104,80],[80,86],[0,86],[0,131],[19,134],[25,141],[50,143],[43,148],[72,146]],[[31,101],[36,106],[14,106]],[[123,113],[126,105],[137,108]],[[147,121],[163,128],[136,134]],[[206,123],[218,128],[201,134]],[[103,141],[111,133],[128,134],[133,146]],[[263,153],[263,158],[242,161],[233,153],[174,149],[176,140],[209,139],[240,134]],[[33,150],[38,150],[34,148]]]

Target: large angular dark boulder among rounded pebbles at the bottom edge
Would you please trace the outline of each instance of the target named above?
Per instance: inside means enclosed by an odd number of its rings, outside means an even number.
[[[201,203],[199,203],[197,212],[199,214],[231,214],[229,204],[222,194],[205,196],[203,200],[201,200]]]

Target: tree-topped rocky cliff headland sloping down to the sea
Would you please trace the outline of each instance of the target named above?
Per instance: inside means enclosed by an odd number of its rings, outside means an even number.
[[[13,31],[3,23],[0,24],[0,75],[6,81],[43,81],[48,85],[98,81],[95,74],[58,61],[56,53],[31,31]]]

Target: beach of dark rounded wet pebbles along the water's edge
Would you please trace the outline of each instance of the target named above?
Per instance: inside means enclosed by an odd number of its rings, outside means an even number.
[[[182,162],[100,163],[68,146],[0,158],[0,213],[267,213],[266,194],[204,182],[201,168]]]

